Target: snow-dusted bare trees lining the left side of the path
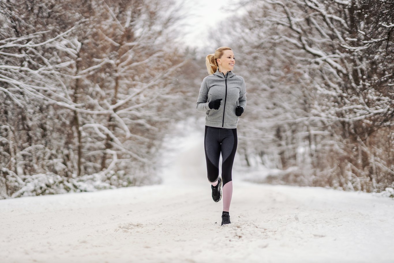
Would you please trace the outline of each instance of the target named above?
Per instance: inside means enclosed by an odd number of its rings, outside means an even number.
[[[1,2],[5,196],[37,173],[70,181],[98,173],[115,186],[158,180],[156,152],[181,100],[170,95],[174,76],[187,63],[173,40],[178,9],[168,4]]]

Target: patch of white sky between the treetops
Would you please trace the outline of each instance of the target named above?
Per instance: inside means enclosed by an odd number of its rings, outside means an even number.
[[[233,15],[226,7],[236,0],[185,0],[186,26],[184,41],[191,47],[201,47],[208,37],[208,32],[216,26],[219,21]]]

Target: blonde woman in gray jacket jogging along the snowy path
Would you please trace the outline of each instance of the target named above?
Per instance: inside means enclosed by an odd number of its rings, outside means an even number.
[[[246,86],[241,76],[232,73],[235,57],[231,48],[219,47],[206,56],[206,76],[197,99],[197,110],[205,112],[204,148],[212,199],[219,202],[223,193],[221,225],[230,224],[232,164],[237,150],[237,123],[246,107]],[[222,155],[221,177],[219,158]],[[222,188],[223,187],[223,188]]]

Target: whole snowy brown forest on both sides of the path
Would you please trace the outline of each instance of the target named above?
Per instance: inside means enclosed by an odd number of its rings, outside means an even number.
[[[394,1],[241,7],[195,50],[178,2],[0,0],[0,198],[160,183],[220,46],[247,84],[242,165],[275,171],[255,181],[394,187]]]

